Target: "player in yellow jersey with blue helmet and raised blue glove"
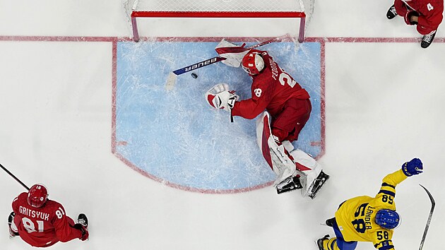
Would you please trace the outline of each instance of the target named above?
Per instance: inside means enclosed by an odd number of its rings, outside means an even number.
[[[336,237],[329,235],[317,240],[320,250],[353,250],[357,242],[372,242],[379,250],[394,249],[391,238],[400,223],[396,212],[396,185],[407,177],[423,171],[422,161],[414,158],[392,174],[384,177],[379,194],[374,198],[358,196],[344,201],[338,207],[336,216],[326,220],[333,227]]]

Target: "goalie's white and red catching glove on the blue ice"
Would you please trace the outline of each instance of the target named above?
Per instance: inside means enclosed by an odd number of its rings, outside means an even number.
[[[215,109],[224,109],[227,112],[232,110],[238,95],[235,90],[229,90],[227,83],[218,83],[206,92],[206,100]]]

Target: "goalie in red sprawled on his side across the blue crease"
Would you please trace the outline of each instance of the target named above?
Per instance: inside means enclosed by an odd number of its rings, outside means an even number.
[[[208,90],[207,101],[216,109],[230,111],[232,116],[254,119],[263,113],[256,122],[257,143],[277,174],[275,189],[278,194],[302,189],[303,196],[314,198],[329,176],[316,160],[302,150],[294,150],[292,145],[312,110],[309,93],[266,51],[251,49],[241,64],[252,78],[251,98],[237,101],[235,91],[220,83]]]

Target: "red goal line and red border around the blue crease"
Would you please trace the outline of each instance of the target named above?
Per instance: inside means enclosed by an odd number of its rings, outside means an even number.
[[[143,37],[141,41],[181,41],[181,42],[219,42],[223,38],[227,37]],[[257,42],[264,40],[268,37],[230,37],[233,41],[246,41]],[[271,37],[272,38],[272,37]],[[306,42],[319,42],[321,44],[321,121],[325,121],[325,83],[326,83],[326,43],[418,43],[422,40],[421,37],[306,37]],[[271,186],[273,181],[269,181],[265,184],[258,186],[250,186],[243,189],[230,189],[230,190],[212,190],[212,189],[197,189],[189,186],[181,186],[178,184],[170,183],[165,179],[159,179],[158,177],[148,174],[142,169],[134,166],[129,160],[126,160],[122,155],[117,153],[117,145],[125,145],[125,141],[116,140],[116,88],[117,88],[117,42],[131,42],[131,37],[69,37],[69,36],[0,36],[0,42],[111,42],[112,43],[112,153],[125,162],[126,165],[143,174],[144,176],[159,181],[167,186],[172,186],[176,189],[182,189],[186,191],[194,191],[205,194],[235,194],[245,191],[252,191],[255,189],[262,189],[265,186]],[[435,37],[434,43],[444,43],[444,37]],[[319,145],[321,147],[321,153],[319,157],[324,155],[326,150],[326,124],[321,122],[321,141],[312,142],[312,145]]]

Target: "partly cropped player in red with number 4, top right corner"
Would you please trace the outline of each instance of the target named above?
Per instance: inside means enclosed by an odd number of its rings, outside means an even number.
[[[407,25],[417,25],[417,32],[423,35],[420,46],[427,48],[442,22],[442,12],[444,0],[394,0],[386,17],[393,19],[397,15],[403,16]]]

